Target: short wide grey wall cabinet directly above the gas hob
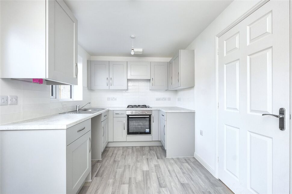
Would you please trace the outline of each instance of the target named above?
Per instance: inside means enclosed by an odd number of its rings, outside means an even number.
[[[128,61],[128,79],[150,79],[151,63],[147,61]]]

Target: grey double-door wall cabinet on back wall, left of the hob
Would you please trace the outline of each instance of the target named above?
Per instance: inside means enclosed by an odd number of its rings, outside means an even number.
[[[89,89],[127,89],[126,61],[91,61],[87,67]]]

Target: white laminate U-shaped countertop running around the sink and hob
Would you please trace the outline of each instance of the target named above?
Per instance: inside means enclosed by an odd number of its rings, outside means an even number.
[[[108,110],[138,110],[137,108],[125,107],[91,107],[105,108],[93,114],[53,114],[44,117],[38,117],[29,120],[22,120],[0,125],[0,130],[33,130],[33,129],[67,129]],[[142,108],[141,108],[142,109]],[[180,107],[152,107],[143,108],[142,110],[160,110],[166,113],[194,113],[194,110]]]

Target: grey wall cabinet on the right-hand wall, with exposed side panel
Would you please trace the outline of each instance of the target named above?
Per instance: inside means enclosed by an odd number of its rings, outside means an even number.
[[[194,50],[179,50],[169,61],[169,90],[194,87]]]

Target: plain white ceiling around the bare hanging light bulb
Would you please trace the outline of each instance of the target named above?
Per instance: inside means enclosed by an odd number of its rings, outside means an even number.
[[[78,43],[91,56],[172,57],[185,49],[230,3],[210,1],[65,0],[78,20]]]

